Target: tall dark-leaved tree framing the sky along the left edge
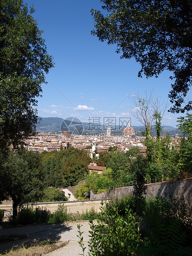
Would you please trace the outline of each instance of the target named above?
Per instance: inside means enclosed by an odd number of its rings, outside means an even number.
[[[43,31],[23,0],[0,1],[0,150],[18,148],[36,131],[37,97],[53,67]]]

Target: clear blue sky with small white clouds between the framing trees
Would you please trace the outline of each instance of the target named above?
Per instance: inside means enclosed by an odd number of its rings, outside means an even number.
[[[46,75],[50,82],[42,85],[43,97],[38,99],[37,107],[39,116],[63,119],[75,116],[85,122],[89,117],[101,117],[100,120],[109,116],[132,117],[131,97],[137,92],[143,95],[146,88],[154,88],[156,96],[167,100],[171,89],[169,72],[143,81],[144,78],[137,77],[140,65],[134,59],[120,59],[114,45],[102,43],[90,34],[94,29],[90,8],[101,9],[100,0],[24,2],[28,7],[34,5],[33,17],[44,31],[47,52],[55,62],[55,68]],[[175,127],[178,116],[166,112],[162,124]],[[133,117],[131,124],[140,125]]]

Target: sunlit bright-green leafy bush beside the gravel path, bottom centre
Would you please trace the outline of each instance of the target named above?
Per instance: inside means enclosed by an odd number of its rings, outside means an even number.
[[[89,255],[127,256],[134,254],[141,242],[140,219],[131,209],[126,215],[120,216],[118,208],[104,208],[103,203],[97,224],[90,223]],[[84,250],[81,225],[78,226],[80,246]],[[83,252],[84,253],[84,252]]]

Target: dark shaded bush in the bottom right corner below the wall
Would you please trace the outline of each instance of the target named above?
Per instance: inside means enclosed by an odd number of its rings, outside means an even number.
[[[149,248],[143,251],[145,255],[153,255],[147,254],[147,250],[153,251],[154,248],[159,250],[156,255],[179,255],[175,254],[176,251],[188,255],[185,250],[192,246],[192,215],[191,206],[184,198],[147,199],[143,227],[149,241]],[[192,255],[192,249],[189,255]]]

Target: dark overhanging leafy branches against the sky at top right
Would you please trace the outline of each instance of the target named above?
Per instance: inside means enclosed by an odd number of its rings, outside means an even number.
[[[100,41],[117,45],[121,58],[134,57],[141,64],[139,77],[173,73],[168,97],[173,113],[189,111],[185,97],[192,82],[192,2],[172,0],[101,0],[100,11],[91,9]]]

